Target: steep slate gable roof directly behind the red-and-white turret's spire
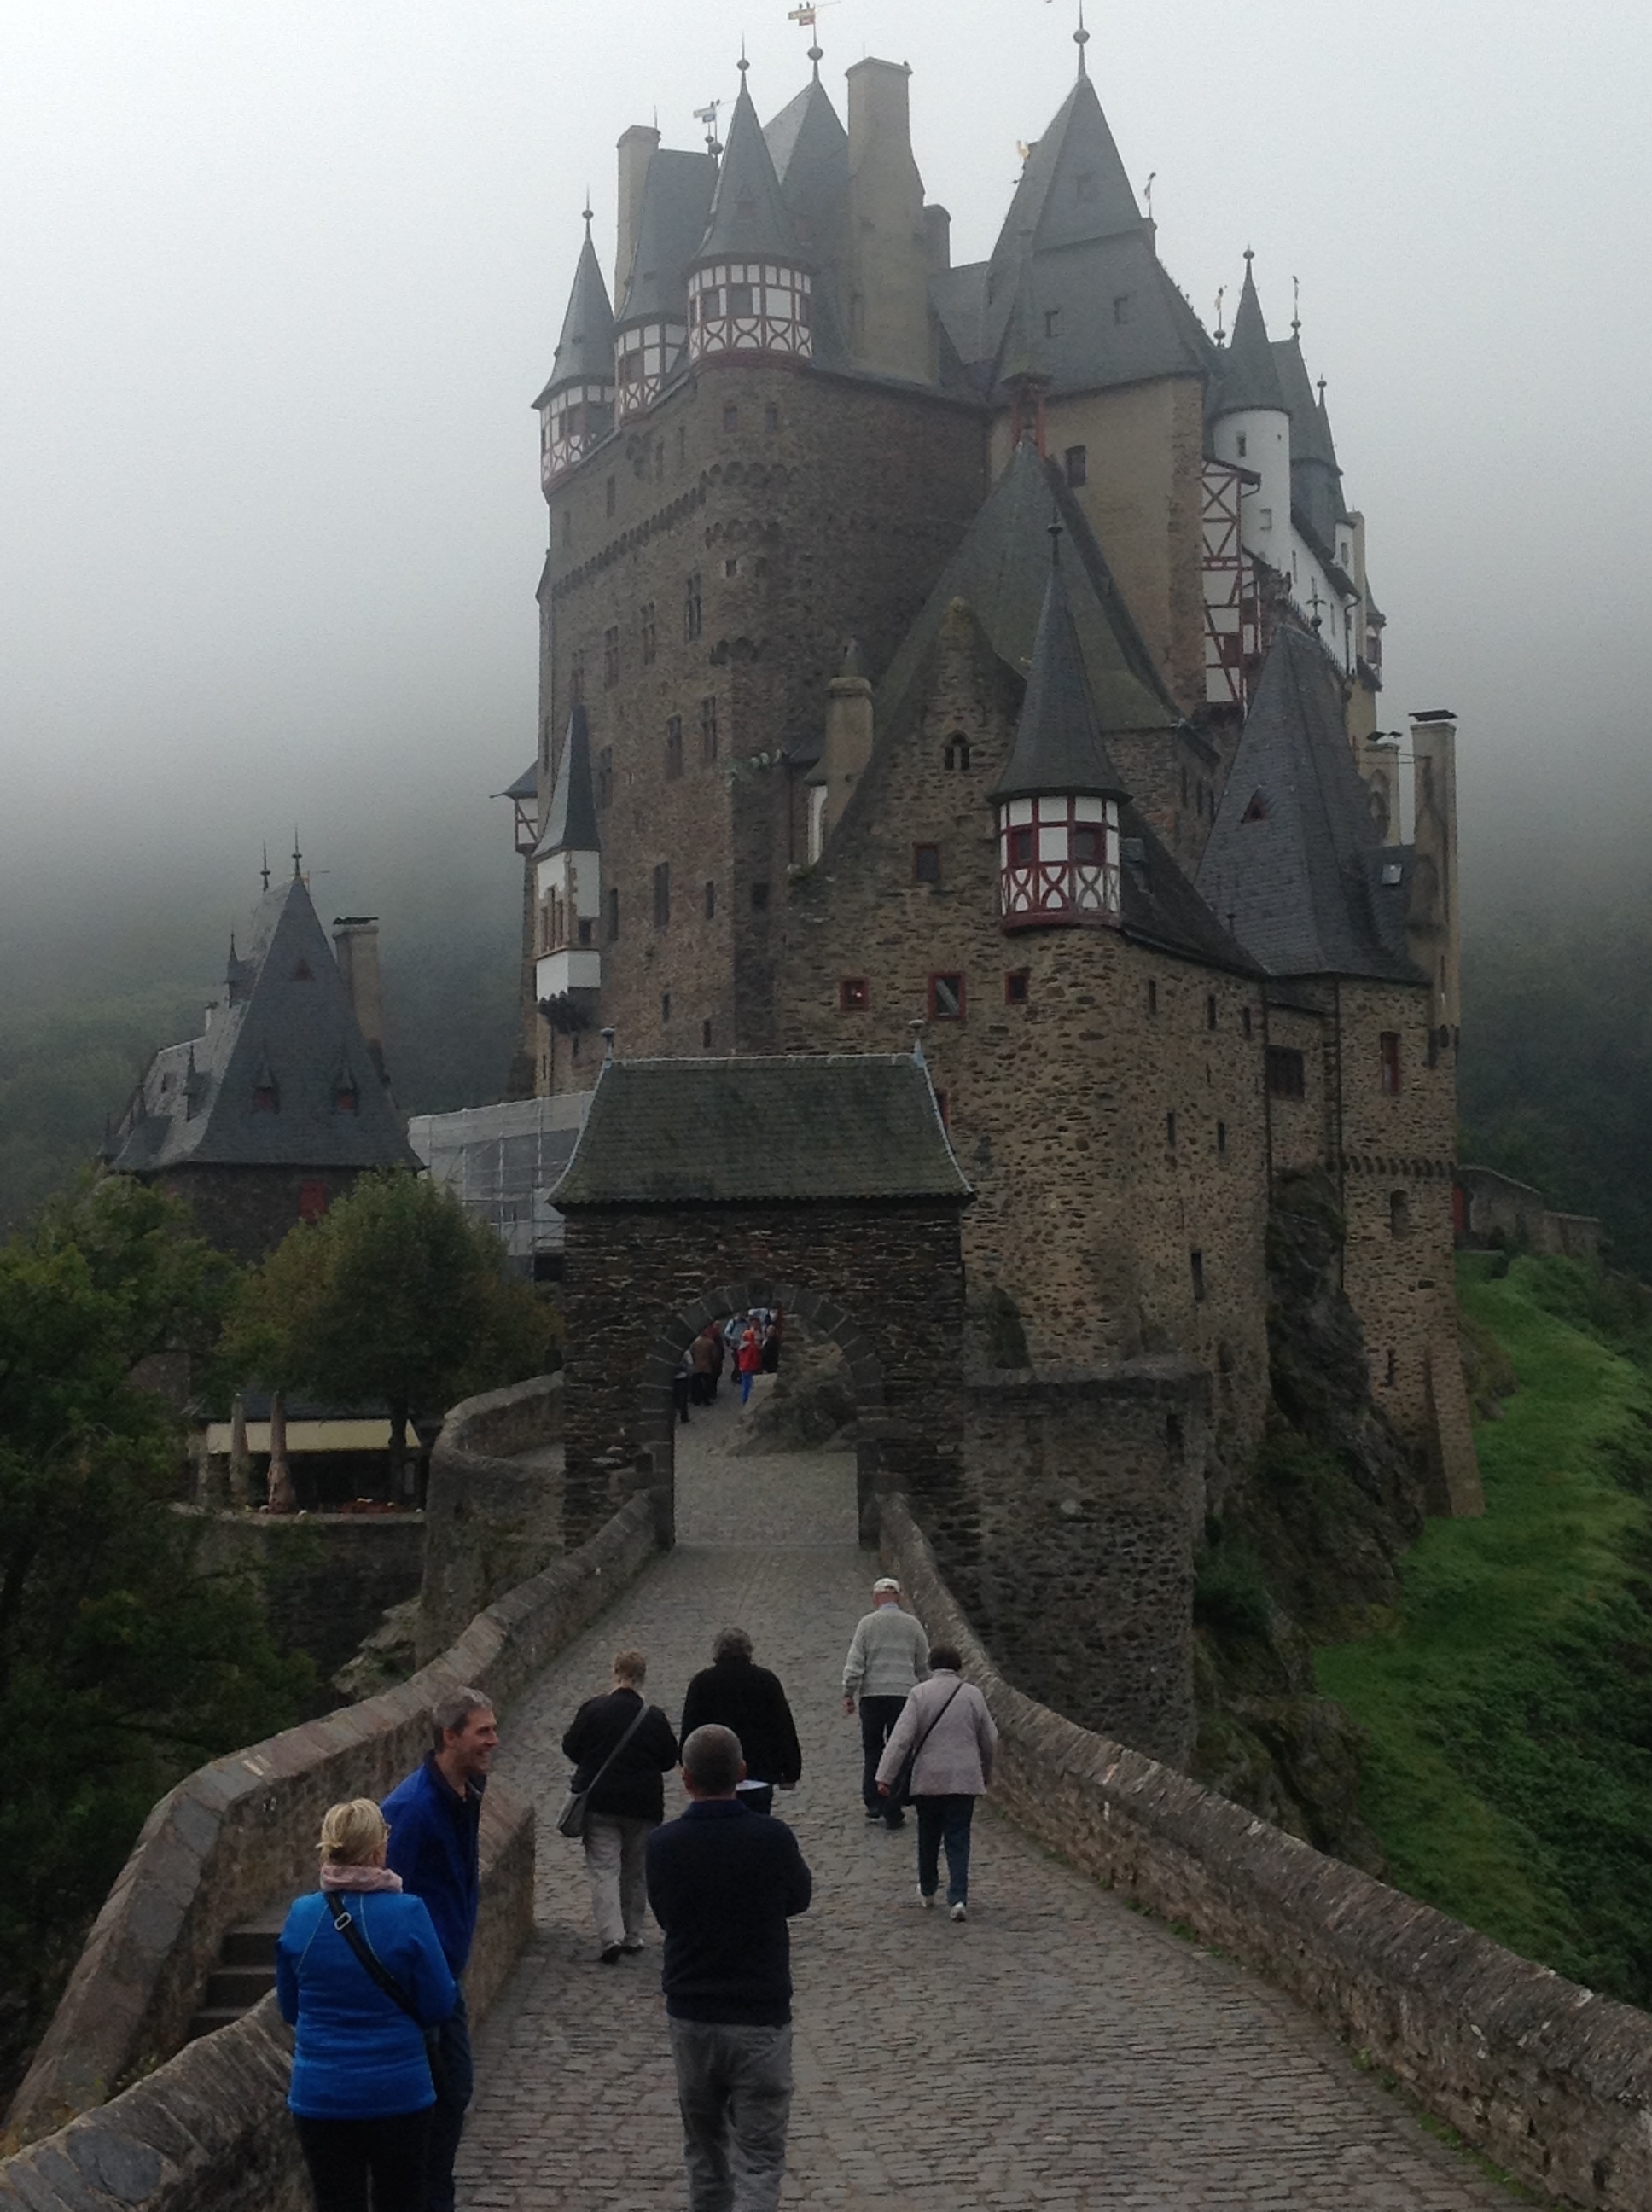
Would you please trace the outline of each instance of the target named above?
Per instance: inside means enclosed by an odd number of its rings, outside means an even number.
[[[986,493],[964,542],[947,562],[878,686],[880,730],[898,719],[953,599],[964,599],[973,608],[997,657],[1026,677],[1044,613],[1053,522],[1064,526],[1073,553],[1066,599],[1101,732],[1168,730],[1181,721],[1112,582],[1095,531],[1062,482],[1062,471],[1039,460],[1031,442],[1022,442]]]

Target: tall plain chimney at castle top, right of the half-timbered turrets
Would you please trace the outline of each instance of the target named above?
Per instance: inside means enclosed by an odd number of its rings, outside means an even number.
[[[880,376],[935,380],[931,234],[911,153],[905,62],[849,69],[849,352]]]

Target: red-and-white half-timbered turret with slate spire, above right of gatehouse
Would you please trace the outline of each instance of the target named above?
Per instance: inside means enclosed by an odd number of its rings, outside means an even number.
[[[1022,719],[991,794],[1006,929],[1119,920],[1119,803],[1126,796],[1101,743],[1062,582],[1062,533],[1053,529],[1050,580]]]

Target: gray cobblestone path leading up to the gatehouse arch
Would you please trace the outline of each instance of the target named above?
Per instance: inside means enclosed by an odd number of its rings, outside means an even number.
[[[728,1398],[728,1394],[725,1394]],[[579,1845],[551,1814],[562,1730],[648,1652],[672,1719],[725,1624],[803,1736],[778,1798],[814,1869],[792,1922],[796,2081],[783,2203],[882,2212],[1468,2212],[1513,2199],[1437,2146],[1261,1980],[1181,1942],[982,1807],[971,1920],[916,1902],[913,1829],[869,1829],[843,1650],[867,1608],[854,1458],[730,1458],[719,1405],[679,1431],[679,1531],[506,1717],[498,1770],[540,1801],[537,1931],[478,2042],[464,2212],[675,2212],[659,1936],[599,1966]],[[743,1535],[765,1548],[719,1546]],[[668,1812],[675,1781],[668,1776]]]

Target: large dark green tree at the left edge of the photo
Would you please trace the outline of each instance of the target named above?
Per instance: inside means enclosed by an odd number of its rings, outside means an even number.
[[[0,1245],[0,2077],[155,1798],[310,1688],[250,1590],[195,1571],[179,1420],[139,1380],[208,1347],[230,1272],[124,1177]]]

